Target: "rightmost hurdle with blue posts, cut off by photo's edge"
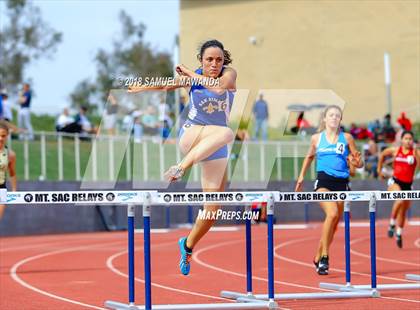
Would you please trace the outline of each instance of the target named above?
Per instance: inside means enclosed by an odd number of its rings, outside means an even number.
[[[386,290],[415,290],[420,289],[420,283],[401,283],[401,284],[377,284],[376,283],[376,245],[375,245],[375,211],[376,211],[376,200],[392,200],[389,199],[392,197],[398,197],[398,200],[413,200],[420,198],[420,191],[411,191],[412,194],[407,194],[407,192],[379,192],[375,197],[372,196],[369,201],[369,218],[370,218],[370,245],[371,245],[371,270],[372,270],[372,279],[371,285],[366,284],[351,284],[351,272],[350,272],[350,204],[345,204],[344,208],[344,221],[345,221],[345,254],[346,254],[346,284],[338,283],[329,283],[321,282],[319,284],[320,288],[338,290],[342,292],[351,292],[359,290],[369,290],[375,289],[377,291],[386,291]],[[372,228],[373,227],[373,228]],[[375,266],[374,266],[375,265]],[[373,275],[375,272],[375,275]],[[407,280],[411,281],[420,281],[419,275],[408,274],[406,275]]]

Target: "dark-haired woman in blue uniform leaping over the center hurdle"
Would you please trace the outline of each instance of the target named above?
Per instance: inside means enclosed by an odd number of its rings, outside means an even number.
[[[201,67],[192,71],[184,65],[177,65],[180,75],[176,85],[133,86],[130,92],[143,90],[172,90],[184,87],[190,93],[191,110],[182,126],[179,147],[185,155],[180,163],[172,166],[166,173],[168,181],[179,180],[185,171],[200,163],[201,186],[203,191],[224,191],[226,185],[227,145],[233,142],[235,135],[227,126],[229,112],[236,90],[236,71],[229,64],[230,53],[217,40],[210,40],[201,45],[197,55]],[[183,84],[183,79],[200,81],[197,85]],[[217,81],[216,85],[203,85],[206,81]],[[217,204],[205,204],[206,212],[220,208]],[[181,259],[180,271],[184,275],[190,272],[192,249],[209,231],[215,220],[199,219],[187,237],[178,241]]]

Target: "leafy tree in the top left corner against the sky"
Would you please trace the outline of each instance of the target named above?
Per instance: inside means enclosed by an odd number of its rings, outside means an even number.
[[[41,57],[51,57],[61,33],[51,28],[38,7],[26,0],[8,0],[0,14],[0,84],[16,91],[27,80],[25,69]]]

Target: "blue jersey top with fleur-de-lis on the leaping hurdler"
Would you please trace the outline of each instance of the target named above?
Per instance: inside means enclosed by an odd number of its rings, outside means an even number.
[[[203,74],[203,69],[197,69],[195,73]],[[227,126],[233,97],[232,91],[218,95],[202,85],[192,85],[188,118],[197,125]]]

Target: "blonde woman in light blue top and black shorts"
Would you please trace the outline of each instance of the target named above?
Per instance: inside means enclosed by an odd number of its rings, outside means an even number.
[[[340,107],[328,106],[319,128],[311,138],[308,154],[302,164],[302,170],[297,180],[295,191],[301,191],[306,171],[316,156],[317,179],[315,191],[347,191],[350,167],[363,166],[360,152],[357,151],[353,137],[340,130],[343,112]],[[322,226],[321,240],[315,254],[314,264],[318,274],[326,275],[329,270],[329,247],[334,238],[340,216],[343,213],[344,203],[325,201],[320,203],[325,213]]]

